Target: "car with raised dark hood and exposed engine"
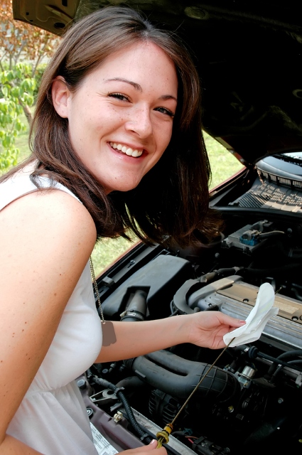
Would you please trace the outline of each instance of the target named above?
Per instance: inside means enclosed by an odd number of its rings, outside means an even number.
[[[60,34],[73,18],[119,1],[15,0],[14,16]],[[177,419],[169,454],[301,454],[302,18],[296,2],[137,0],[177,31],[203,87],[203,127],[244,164],[210,193],[225,228],[210,245],[139,243],[97,279],[106,319],[195,311],[246,319],[259,287],[279,314],[258,341],[228,348]],[[89,334],[87,334],[89,336]],[[139,343],[139,340],[138,340]],[[78,384],[91,422],[116,449],[141,445],[171,422],[219,352],[173,346],[92,365]],[[103,378],[119,390],[104,387]]]

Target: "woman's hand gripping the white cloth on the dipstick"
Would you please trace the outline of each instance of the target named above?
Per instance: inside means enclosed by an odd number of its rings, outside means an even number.
[[[225,333],[245,324],[220,311],[203,311],[187,317],[190,317],[190,343],[210,349],[225,348]]]

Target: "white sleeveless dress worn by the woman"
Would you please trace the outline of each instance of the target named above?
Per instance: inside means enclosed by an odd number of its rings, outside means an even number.
[[[44,188],[50,186],[48,178],[39,180]],[[60,183],[55,188],[74,196]],[[29,174],[19,172],[0,184],[0,210],[33,191],[37,188]],[[87,263],[48,353],[7,433],[45,455],[96,455],[86,407],[75,378],[90,368],[101,347],[102,327]]]

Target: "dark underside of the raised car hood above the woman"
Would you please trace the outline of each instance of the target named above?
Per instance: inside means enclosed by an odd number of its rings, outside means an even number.
[[[58,35],[115,0],[14,0],[14,17]],[[136,0],[193,51],[205,131],[246,165],[302,149],[302,16],[288,1]]]

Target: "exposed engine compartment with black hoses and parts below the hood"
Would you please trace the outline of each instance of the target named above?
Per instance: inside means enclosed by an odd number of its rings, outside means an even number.
[[[139,244],[98,279],[105,319],[125,323],[197,311],[246,319],[261,284],[274,287],[279,314],[258,341],[222,353],[178,416],[168,454],[301,454],[302,219],[238,198],[215,200],[225,230],[210,245]],[[119,450],[146,444],[220,353],[185,344],[92,365],[80,387],[92,422]]]

